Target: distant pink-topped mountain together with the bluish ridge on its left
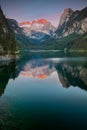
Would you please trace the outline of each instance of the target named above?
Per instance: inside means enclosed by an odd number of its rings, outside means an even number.
[[[52,38],[56,31],[56,28],[46,19],[39,19],[32,23],[23,22],[20,24],[13,19],[7,20],[17,40],[22,43],[41,43]]]

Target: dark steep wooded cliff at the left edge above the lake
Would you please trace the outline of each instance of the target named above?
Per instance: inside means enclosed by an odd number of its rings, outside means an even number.
[[[16,50],[16,40],[0,7],[0,51]]]

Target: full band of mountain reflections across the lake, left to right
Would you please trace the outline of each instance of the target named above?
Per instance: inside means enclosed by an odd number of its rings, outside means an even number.
[[[57,72],[62,87],[73,86],[87,90],[87,60],[82,59],[24,56],[17,63],[0,63],[0,96],[4,93],[9,79],[15,80],[23,76],[45,80],[53,72]]]

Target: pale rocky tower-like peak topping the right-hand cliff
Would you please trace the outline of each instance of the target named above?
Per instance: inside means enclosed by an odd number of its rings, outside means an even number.
[[[73,10],[71,8],[64,9],[64,12],[60,18],[59,27],[63,25],[64,22],[67,22],[72,14]]]

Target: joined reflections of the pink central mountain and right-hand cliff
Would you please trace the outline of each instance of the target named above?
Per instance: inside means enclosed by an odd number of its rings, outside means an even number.
[[[63,87],[87,90],[86,58],[32,58],[22,64],[19,75],[46,79],[56,71]]]

